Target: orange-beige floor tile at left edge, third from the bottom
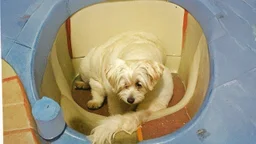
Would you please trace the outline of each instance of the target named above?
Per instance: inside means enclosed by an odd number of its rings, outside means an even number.
[[[3,82],[3,105],[24,103],[22,89],[18,80],[12,79]]]

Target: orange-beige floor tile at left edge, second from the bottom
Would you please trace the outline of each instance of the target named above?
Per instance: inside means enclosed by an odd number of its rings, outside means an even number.
[[[4,106],[3,122],[4,131],[31,128],[30,119],[23,104]]]

